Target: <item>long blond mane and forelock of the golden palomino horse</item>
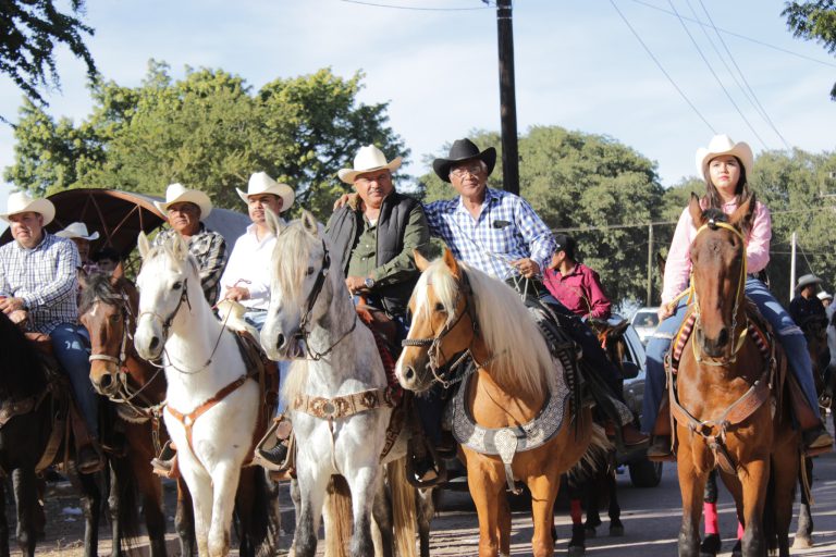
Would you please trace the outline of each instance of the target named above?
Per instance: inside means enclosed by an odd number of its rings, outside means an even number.
[[[480,334],[493,358],[491,374],[499,383],[516,385],[531,396],[544,396],[548,374],[554,373],[555,364],[519,294],[467,263],[459,261],[458,265],[470,283]],[[426,289],[429,284],[450,318],[454,318],[459,283],[443,260],[430,264],[415,290]]]

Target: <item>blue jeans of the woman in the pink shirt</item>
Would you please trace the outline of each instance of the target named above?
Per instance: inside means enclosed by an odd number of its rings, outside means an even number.
[[[751,299],[769,321],[778,337],[792,374],[798,380],[808,404],[817,411],[819,397],[815,395],[813,383],[813,367],[810,352],[807,351],[807,339],[801,329],[796,325],[789,313],[778,304],[772,293],[758,278],[747,278],[746,295]],[[653,337],[648,343],[648,370],[644,380],[644,400],[641,416],[641,431],[651,433],[659,416],[659,405],[665,393],[665,354],[671,349],[671,343],[679,325],[685,319],[685,299],[679,300],[673,315],[660,323]]]

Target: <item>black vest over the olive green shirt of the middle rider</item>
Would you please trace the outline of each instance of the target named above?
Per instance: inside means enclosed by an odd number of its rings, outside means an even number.
[[[376,265],[380,267],[393,260],[404,249],[404,233],[409,222],[409,213],[422,211],[421,203],[411,197],[392,191],[380,208],[378,218],[378,245],[376,249]],[[362,212],[355,211],[348,205],[337,209],[328,221],[328,237],[331,240],[331,259],[334,267],[343,273],[348,271],[352,248],[357,244],[359,231],[362,227]],[[415,283],[420,273],[415,270],[415,276],[408,281],[386,286],[376,286],[373,294],[380,297],[383,309],[393,317],[403,317],[409,304]]]

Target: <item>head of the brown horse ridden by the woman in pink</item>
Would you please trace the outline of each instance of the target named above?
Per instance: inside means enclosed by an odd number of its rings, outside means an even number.
[[[690,247],[698,321],[694,342],[711,358],[730,357],[740,327],[746,326],[746,242],[743,224],[751,218],[754,196],[732,214],[703,211],[691,194],[689,211],[697,226]]]

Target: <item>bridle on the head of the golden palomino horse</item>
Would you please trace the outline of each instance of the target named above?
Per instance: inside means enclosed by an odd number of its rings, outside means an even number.
[[[470,281],[467,278],[467,273],[462,271],[462,278],[457,281],[457,292],[456,292],[456,299],[453,304],[455,308],[458,308],[462,301],[462,298],[465,298],[465,307],[462,311],[457,311],[453,318],[448,319],[446,323],[444,323],[444,326],[441,327],[441,331],[435,336],[430,336],[426,338],[405,338],[401,342],[401,346],[408,347],[408,346],[416,346],[416,347],[427,347],[427,356],[430,359],[429,368],[430,371],[432,371],[433,375],[433,383],[441,383],[442,387],[448,388],[450,385],[453,383],[457,383],[458,381],[462,381],[464,379],[464,375],[459,375],[455,379],[450,379],[450,376],[455,372],[455,370],[462,366],[467,359],[471,359],[474,361],[474,370],[483,368],[488,364],[488,362],[495,357],[491,357],[489,360],[487,360],[483,363],[479,363],[474,356],[472,347],[474,342],[476,342],[477,336],[479,336],[479,322],[476,319],[476,309],[474,308],[472,302],[472,288],[470,287]],[[467,315],[470,318],[470,323],[474,329],[474,335],[470,337],[470,344],[468,347],[460,352],[460,356],[456,358],[456,360],[451,364],[447,366],[445,370],[441,370],[443,363],[439,363],[440,361],[447,361],[446,356],[444,355],[444,350],[442,349],[442,341],[444,341],[444,337],[447,336],[456,326],[458,325],[459,321]],[[453,355],[455,356],[455,355]],[[441,370],[441,371],[440,371]]]

